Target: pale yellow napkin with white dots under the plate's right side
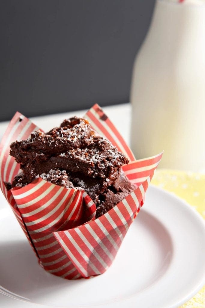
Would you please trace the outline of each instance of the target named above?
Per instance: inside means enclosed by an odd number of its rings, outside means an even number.
[[[152,184],[175,193],[192,205],[205,219],[205,174],[158,169]],[[179,308],[205,308],[205,286]]]

